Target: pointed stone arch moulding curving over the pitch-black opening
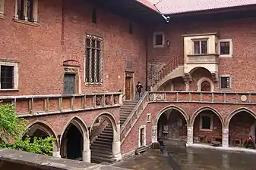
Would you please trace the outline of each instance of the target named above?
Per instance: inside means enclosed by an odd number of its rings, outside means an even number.
[[[63,134],[65,133],[66,128],[68,128],[68,125],[71,125],[71,124],[76,126],[78,128],[78,130],[81,131],[81,134],[83,135],[84,143],[89,144],[90,143],[89,142],[89,131],[88,131],[87,125],[84,122],[84,120],[81,119],[79,116],[71,117],[71,119],[69,119],[69,121],[66,123],[66,125],[64,126],[64,128],[62,130],[62,137],[60,139],[60,143],[62,142]]]

